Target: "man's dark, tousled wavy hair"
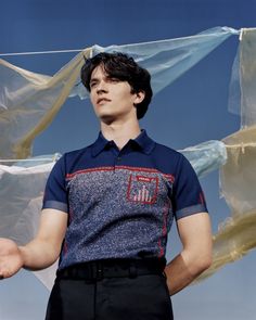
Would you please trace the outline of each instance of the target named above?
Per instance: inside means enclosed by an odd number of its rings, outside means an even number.
[[[131,93],[138,93],[141,91],[145,93],[143,101],[136,104],[137,118],[141,119],[148,111],[153,94],[150,82],[150,73],[139,66],[132,57],[129,57],[124,53],[102,52],[86,60],[86,63],[81,68],[81,82],[89,92],[91,74],[99,65],[103,66],[108,77],[119,79],[120,81],[127,81],[131,87]]]

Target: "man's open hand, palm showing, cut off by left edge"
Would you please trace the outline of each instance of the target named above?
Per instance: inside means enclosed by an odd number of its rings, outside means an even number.
[[[23,267],[22,253],[12,240],[0,238],[0,279],[10,278]]]

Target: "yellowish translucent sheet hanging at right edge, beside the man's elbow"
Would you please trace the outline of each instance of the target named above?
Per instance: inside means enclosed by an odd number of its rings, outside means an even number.
[[[202,280],[256,247],[256,126],[226,139],[228,159],[220,170],[220,188],[231,216],[214,236],[214,261]]]

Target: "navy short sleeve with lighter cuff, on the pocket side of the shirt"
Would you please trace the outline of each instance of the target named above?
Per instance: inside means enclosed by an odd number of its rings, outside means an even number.
[[[180,154],[174,189],[172,208],[176,219],[207,212],[204,193],[190,162]]]

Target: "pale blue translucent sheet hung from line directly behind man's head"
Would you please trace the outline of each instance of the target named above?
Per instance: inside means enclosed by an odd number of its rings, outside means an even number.
[[[215,27],[190,37],[166,39],[124,46],[92,47],[92,55],[100,52],[120,51],[131,55],[152,75],[152,88],[157,93],[174,82],[215,48],[239,31],[229,27]],[[73,94],[87,97],[80,85]]]

